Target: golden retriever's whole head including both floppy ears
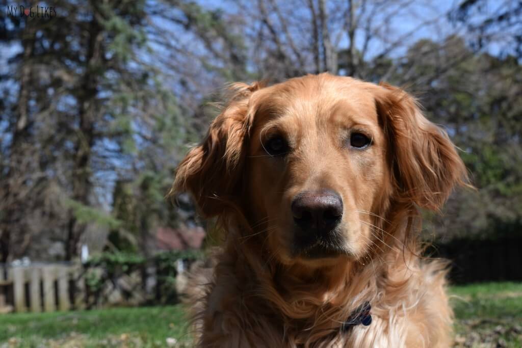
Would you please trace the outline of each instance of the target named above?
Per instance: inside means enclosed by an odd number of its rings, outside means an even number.
[[[243,221],[236,237],[257,236],[283,263],[360,258],[397,223],[390,214],[436,210],[466,176],[398,88],[328,74],[235,88],[173,191],[204,217]]]

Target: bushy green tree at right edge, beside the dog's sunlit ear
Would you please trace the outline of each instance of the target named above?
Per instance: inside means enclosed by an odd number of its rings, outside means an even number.
[[[418,59],[418,52],[431,51]],[[429,230],[439,238],[519,233],[522,223],[522,66],[514,56],[474,53],[460,37],[412,46],[395,81],[417,81],[426,114],[444,125],[477,190],[459,190]],[[442,68],[441,67],[445,67]],[[392,80],[393,81],[393,80]]]

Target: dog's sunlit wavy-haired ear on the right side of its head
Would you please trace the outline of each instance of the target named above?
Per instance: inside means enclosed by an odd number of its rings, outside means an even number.
[[[405,91],[381,84],[377,112],[388,139],[397,198],[438,210],[455,185],[466,185],[467,171],[446,131],[426,119]]]

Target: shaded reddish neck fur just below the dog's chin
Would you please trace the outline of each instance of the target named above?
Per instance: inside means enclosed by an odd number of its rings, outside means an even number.
[[[357,307],[368,301],[367,289],[374,289],[368,282],[375,277],[368,274],[382,272],[381,262],[372,262],[368,257],[360,260],[342,258],[339,262],[322,267],[311,268],[301,263],[287,265],[258,248],[235,248],[231,246],[227,254],[235,254],[236,271],[244,275],[248,283],[241,284],[246,291],[253,291],[269,301],[284,302],[288,306],[299,307],[312,312],[325,306]],[[382,255],[379,257],[383,257]],[[353,303],[353,305],[351,305]],[[304,313],[303,313],[304,314]]]

